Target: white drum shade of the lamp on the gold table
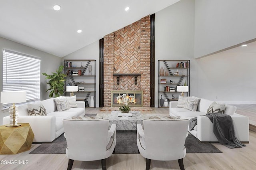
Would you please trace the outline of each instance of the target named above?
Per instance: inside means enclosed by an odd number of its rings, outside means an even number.
[[[26,101],[26,91],[1,91],[1,103],[22,103]]]

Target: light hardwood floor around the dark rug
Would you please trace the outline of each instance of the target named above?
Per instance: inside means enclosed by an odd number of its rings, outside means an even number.
[[[245,107],[246,108],[246,107]],[[249,109],[250,110],[250,109]],[[86,109],[86,113],[99,113],[100,109]],[[252,111],[253,112],[253,111]],[[110,112],[104,112],[110,113]],[[153,108],[149,113],[168,115],[168,109]],[[29,154],[40,144],[32,144],[29,151],[16,155],[0,155],[1,170],[66,170],[68,158],[65,154]],[[244,148],[229,149],[214,143],[223,153],[186,154],[184,167],[186,170],[253,170],[256,167],[256,132],[250,131],[250,142]],[[17,163],[6,164],[7,161]],[[21,164],[19,161],[24,162]],[[27,164],[26,164],[27,163]],[[146,160],[140,154],[112,154],[106,160],[108,170],[144,170]],[[100,170],[100,161],[74,161],[73,170]],[[179,170],[178,160],[151,161],[150,170]]]

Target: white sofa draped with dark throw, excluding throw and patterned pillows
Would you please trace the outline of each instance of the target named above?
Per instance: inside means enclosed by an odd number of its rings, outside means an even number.
[[[196,111],[190,111],[182,107],[177,107],[178,101],[170,102],[170,116],[180,116],[181,119],[192,119],[197,117],[197,125],[193,130],[188,131],[202,142],[218,142],[218,139],[213,132],[213,123],[206,116],[209,106],[214,101],[200,99]],[[236,114],[236,107],[225,105],[224,114],[230,115],[234,124],[235,135],[240,142],[249,142],[249,118],[243,115]]]

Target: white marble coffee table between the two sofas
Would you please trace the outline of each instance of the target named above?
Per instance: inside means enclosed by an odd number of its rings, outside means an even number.
[[[143,124],[143,119],[149,119],[150,116],[163,116],[162,114],[142,114],[140,111],[130,111],[132,117],[118,117],[120,111],[109,113],[98,113],[97,116],[103,116],[103,119],[109,120],[109,125],[116,124],[116,130],[136,130],[137,124]]]

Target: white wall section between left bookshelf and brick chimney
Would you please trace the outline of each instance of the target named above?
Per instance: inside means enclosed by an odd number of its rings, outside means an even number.
[[[100,45],[99,41],[91,43],[73,53],[70,53],[62,58],[64,59],[95,59],[96,60],[96,107],[99,107],[99,58],[100,58]],[[95,99],[95,97],[94,97]]]

